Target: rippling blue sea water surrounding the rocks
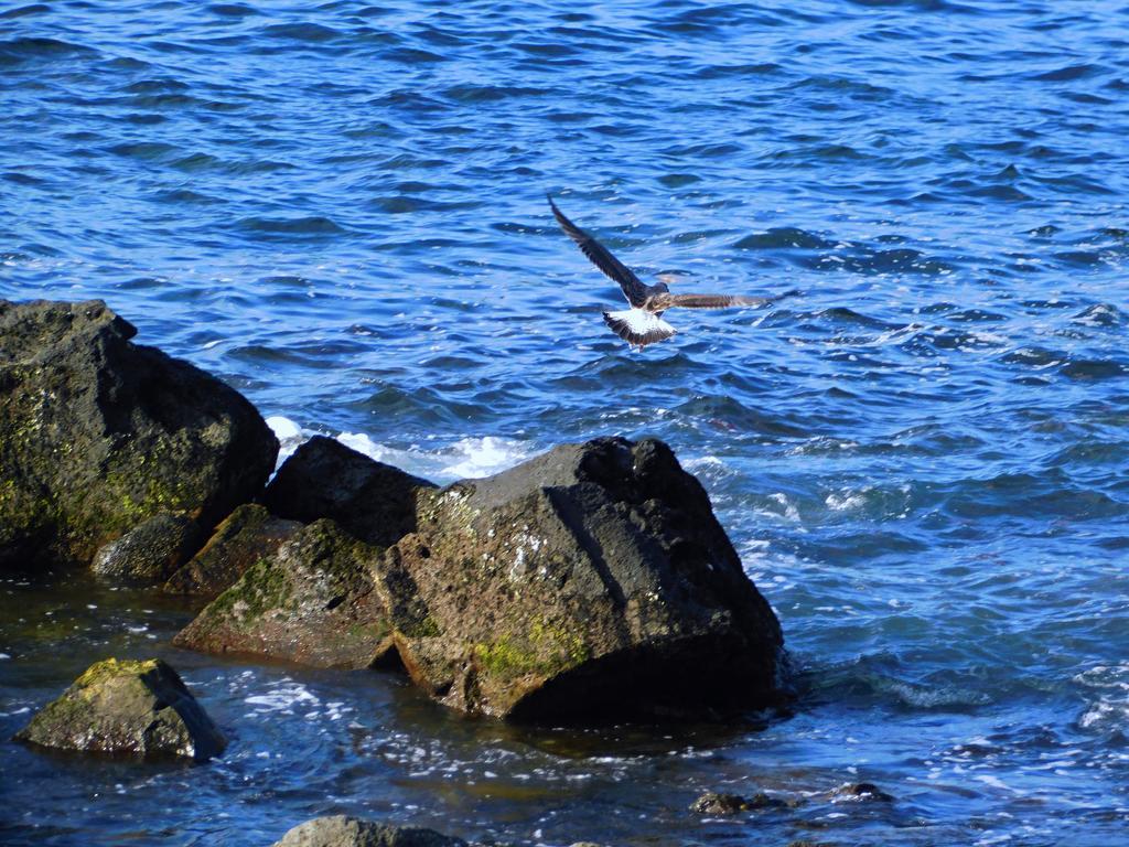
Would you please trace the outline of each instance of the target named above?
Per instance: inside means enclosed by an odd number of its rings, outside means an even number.
[[[467,721],[403,680],[174,650],[178,602],[0,582],[0,736],[161,655],[222,760],[0,740],[6,845],[268,845],[351,812],[567,845],[1129,841],[1129,7],[0,2],[0,296],[437,481],[653,434],[796,669],[787,719]],[[645,279],[797,294],[672,312]],[[843,800],[867,780],[893,803]],[[698,793],[794,807],[702,820]]]

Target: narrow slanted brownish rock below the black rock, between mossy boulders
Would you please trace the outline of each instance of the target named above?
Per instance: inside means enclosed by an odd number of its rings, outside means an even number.
[[[300,529],[297,521],[275,517],[262,506],[239,506],[216,529],[203,550],[168,578],[164,590],[215,597],[260,559],[273,556]]]

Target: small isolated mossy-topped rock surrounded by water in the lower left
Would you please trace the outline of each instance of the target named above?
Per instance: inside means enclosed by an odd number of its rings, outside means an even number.
[[[16,735],[61,750],[210,759],[227,741],[165,662],[90,665]]]

